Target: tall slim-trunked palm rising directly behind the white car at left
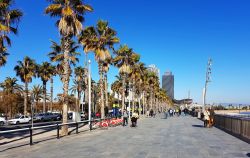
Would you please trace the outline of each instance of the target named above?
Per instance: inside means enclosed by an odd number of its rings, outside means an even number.
[[[36,75],[37,65],[35,61],[29,57],[25,57],[23,61],[18,61],[15,66],[16,76],[19,76],[21,81],[25,83],[24,91],[24,115],[27,114],[28,103],[28,84],[32,82],[32,77]]]

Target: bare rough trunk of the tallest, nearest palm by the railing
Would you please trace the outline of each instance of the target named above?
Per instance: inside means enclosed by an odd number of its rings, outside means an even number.
[[[64,47],[64,61],[63,61],[63,122],[68,122],[68,91],[69,91],[69,76],[70,76],[70,67],[69,67],[69,52],[70,52],[70,37],[66,36],[63,39]],[[68,135],[68,126],[62,126],[62,136]]]

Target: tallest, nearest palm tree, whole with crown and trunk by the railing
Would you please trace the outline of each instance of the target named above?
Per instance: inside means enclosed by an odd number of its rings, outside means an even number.
[[[63,123],[67,122],[68,114],[68,90],[69,90],[69,53],[70,41],[82,31],[84,13],[93,9],[82,0],[50,0],[51,4],[45,9],[45,13],[51,17],[59,17],[57,26],[62,36],[63,64]],[[68,135],[68,126],[62,127],[62,135]]]

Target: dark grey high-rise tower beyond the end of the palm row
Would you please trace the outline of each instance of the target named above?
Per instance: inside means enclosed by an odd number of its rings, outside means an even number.
[[[162,88],[170,98],[174,99],[174,75],[171,71],[165,72],[162,76]]]

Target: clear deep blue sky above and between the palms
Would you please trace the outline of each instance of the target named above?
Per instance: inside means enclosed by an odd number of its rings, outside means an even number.
[[[86,14],[84,26],[108,20],[122,44],[141,54],[141,61],[155,64],[163,74],[175,75],[175,97],[202,102],[206,64],[213,59],[209,103],[250,103],[250,1],[231,0],[87,0],[94,8]],[[48,61],[50,39],[58,41],[55,18],[44,14],[46,0],[31,3],[16,0],[24,12],[18,36],[12,36],[9,59],[0,68],[0,81],[15,76],[18,60],[30,56],[38,63]],[[82,52],[81,50],[79,50]],[[84,56],[80,57],[83,64]],[[97,64],[91,55],[93,78],[98,79]],[[111,68],[109,81],[118,73]],[[34,79],[32,84],[40,83]],[[48,84],[49,86],[49,84]],[[62,84],[56,79],[55,92]]]

